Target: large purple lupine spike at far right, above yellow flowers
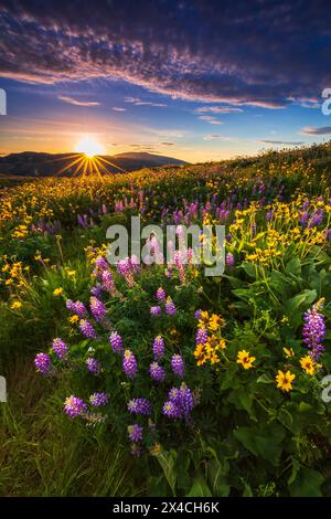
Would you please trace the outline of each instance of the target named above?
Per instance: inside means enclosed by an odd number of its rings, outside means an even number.
[[[325,337],[325,322],[323,314],[319,313],[323,300],[320,299],[312,308],[305,313],[303,316],[303,342],[310,349],[310,356],[313,360],[318,360],[324,351],[322,341]]]

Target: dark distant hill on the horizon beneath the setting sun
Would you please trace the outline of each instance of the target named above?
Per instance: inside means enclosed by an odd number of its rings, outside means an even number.
[[[76,165],[70,165],[81,155],[82,153],[39,153],[35,151],[10,153],[4,157],[0,157],[0,174],[13,174],[20,177],[52,177],[54,174],[58,174],[62,177],[70,177],[76,169]],[[127,152],[114,156],[100,156],[100,158],[118,166],[125,171],[188,163],[172,157],[146,152]],[[67,168],[67,166],[70,167]],[[113,167],[109,163],[105,163],[105,166],[109,172],[121,172],[120,169]]]

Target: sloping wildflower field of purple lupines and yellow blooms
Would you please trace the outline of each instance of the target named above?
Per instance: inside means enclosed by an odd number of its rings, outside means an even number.
[[[330,496],[330,171],[325,144],[3,187],[0,494]],[[224,224],[224,274],[110,266],[131,215]]]

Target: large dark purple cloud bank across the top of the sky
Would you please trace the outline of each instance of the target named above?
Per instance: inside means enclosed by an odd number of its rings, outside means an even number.
[[[182,1],[171,9],[163,0],[99,0],[97,9],[79,0],[8,0],[0,73],[40,84],[122,80],[173,98],[279,109],[291,98],[319,97],[329,84],[328,13],[327,2],[310,0]]]

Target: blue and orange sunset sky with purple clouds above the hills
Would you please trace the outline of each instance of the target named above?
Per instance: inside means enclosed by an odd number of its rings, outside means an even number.
[[[0,153],[190,162],[331,138],[329,1],[1,1]],[[331,94],[331,91],[330,91]]]

